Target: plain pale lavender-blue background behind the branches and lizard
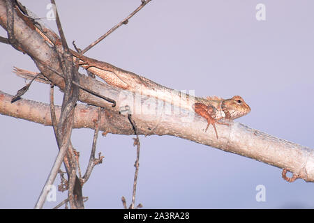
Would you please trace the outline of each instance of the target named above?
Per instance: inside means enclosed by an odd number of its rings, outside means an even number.
[[[50,1],[22,1],[45,17]],[[257,3],[266,21],[257,21]],[[140,0],[57,1],[69,45],[84,48],[140,5]],[[241,95],[252,112],[245,125],[312,147],[314,1],[154,0],[87,56],[107,61],[198,96]],[[54,22],[44,21],[56,30]],[[0,35],[6,32],[0,29]],[[72,47],[72,46],[71,46]],[[73,47],[72,47],[73,48]],[[15,95],[24,80],[13,66],[38,71],[27,55],[0,45],[0,89]],[[57,91],[58,92],[58,91]],[[34,83],[24,98],[48,102],[49,87]],[[56,103],[61,103],[57,93]],[[204,126],[200,126],[204,128]],[[93,130],[73,130],[82,171]],[[86,208],[129,205],[135,168],[133,136],[98,137],[105,156],[83,194]],[[170,136],[140,136],[136,204],[144,208],[314,208],[313,183],[287,183],[281,169],[240,155]],[[33,208],[57,155],[51,127],[0,115],[0,208]],[[59,176],[54,185],[59,185]],[[257,185],[266,201],[257,202]],[[66,198],[46,202],[52,208]]]

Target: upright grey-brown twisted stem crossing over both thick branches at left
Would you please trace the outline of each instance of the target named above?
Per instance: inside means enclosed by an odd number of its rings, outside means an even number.
[[[52,0],[54,3],[54,0]],[[55,3],[54,3],[55,4]],[[56,9],[57,10],[57,9]],[[65,81],[65,89],[63,95],[63,102],[61,107],[61,115],[59,118],[59,123],[57,125],[57,134],[56,139],[59,147],[59,153],[57,155],[57,159],[54,162],[52,170],[48,176],[48,179],[43,187],[42,192],[40,193],[40,197],[36,203],[35,208],[42,208],[43,203],[45,202],[45,198],[47,196],[47,187],[52,185],[54,179],[57,176],[57,172],[61,167],[61,163],[63,162],[63,158],[66,155],[66,151],[68,151],[70,144],[70,135],[72,133],[73,128],[73,119],[74,119],[74,107],[78,99],[79,89],[77,86],[73,85],[73,80],[77,80],[77,75],[75,74],[75,70],[73,68],[73,60],[72,55],[69,52],[68,45],[66,44],[66,39],[64,38],[63,31],[61,28],[61,22],[59,21],[59,17],[57,16],[57,26],[59,29],[59,34],[61,36],[62,46],[54,45],[56,52],[58,52],[59,63],[61,64],[61,70],[63,72],[63,77]],[[76,71],[77,72],[77,71]],[[80,208],[77,206],[74,199],[73,188],[75,183],[75,172],[76,165],[73,164],[72,159],[70,160],[70,179],[69,179],[69,190],[68,190],[68,199],[70,201],[71,208]],[[74,176],[73,176],[74,175]]]

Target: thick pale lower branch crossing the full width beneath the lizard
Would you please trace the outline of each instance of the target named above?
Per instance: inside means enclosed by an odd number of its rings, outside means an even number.
[[[50,105],[24,99],[11,104],[12,97],[0,91],[0,114],[52,125]],[[56,107],[57,117],[59,112],[60,107]],[[75,114],[73,128],[95,128],[95,122],[98,120],[97,107],[77,105]],[[137,134],[167,134],[181,137],[288,169],[299,178],[314,182],[314,150],[311,148],[278,139],[237,122],[230,126],[219,126],[220,134],[217,141],[214,130],[204,132],[207,123],[200,116],[195,116],[193,121],[186,122],[182,122],[184,119],[179,114],[160,113],[156,117],[156,114],[146,112],[142,115],[134,114],[132,117],[137,123]],[[100,131],[112,134],[134,134],[127,115],[109,109],[102,113]]]

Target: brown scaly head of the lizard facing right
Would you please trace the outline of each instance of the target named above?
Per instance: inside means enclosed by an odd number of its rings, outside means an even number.
[[[223,100],[222,108],[223,112],[225,112],[225,117],[229,119],[239,118],[251,112],[251,107],[238,95]]]

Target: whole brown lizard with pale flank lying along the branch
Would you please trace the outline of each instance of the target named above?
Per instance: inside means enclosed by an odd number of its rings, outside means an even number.
[[[218,98],[216,96],[207,98],[192,97],[186,93],[157,84],[133,72],[117,68],[110,63],[91,59],[72,50],[71,52],[75,59],[80,59],[80,66],[94,73],[107,84],[111,84],[119,89],[127,89],[134,93],[135,91],[140,91],[141,94],[174,103],[174,105],[177,104],[184,109],[193,109],[193,112],[207,120],[205,132],[209,125],[213,125],[217,139],[218,134],[215,124],[229,125],[228,123],[220,122],[220,119],[233,120],[251,112],[251,108],[238,95],[230,99]]]

